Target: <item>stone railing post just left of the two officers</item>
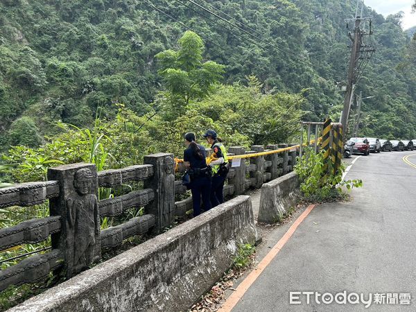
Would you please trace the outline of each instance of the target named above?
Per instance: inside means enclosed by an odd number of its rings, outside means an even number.
[[[156,219],[155,232],[160,233],[175,220],[175,163],[173,154],[157,153],[144,157],[144,164],[153,165],[153,177],[144,181],[144,189],[153,189],[155,199],[146,206],[146,214]]]

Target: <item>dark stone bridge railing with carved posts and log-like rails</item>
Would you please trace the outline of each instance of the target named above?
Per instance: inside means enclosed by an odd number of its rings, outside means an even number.
[[[295,145],[295,144],[293,144]],[[290,146],[269,145],[266,150]],[[230,155],[264,151],[263,146],[229,148]],[[247,189],[260,188],[293,170],[296,150],[241,159],[232,167],[224,187],[225,196],[238,196]],[[184,171],[182,165],[178,168]],[[10,285],[34,283],[52,271],[77,275],[100,261],[101,250],[119,245],[138,234],[159,234],[192,209],[192,198],[175,201],[187,191],[175,181],[173,154],[158,153],[144,157],[144,164],[96,172],[94,164],[69,164],[49,168],[47,182],[30,182],[0,189],[0,208],[29,207],[49,200],[50,216],[35,218],[13,227],[0,229],[0,251],[24,243],[40,243],[51,236],[51,248],[0,271],[0,291]],[[142,182],[137,191],[98,200],[99,188],[114,188],[128,182]],[[119,216],[126,209],[144,207],[145,214],[121,225],[101,229],[100,217]],[[22,208],[24,209],[24,208]]]

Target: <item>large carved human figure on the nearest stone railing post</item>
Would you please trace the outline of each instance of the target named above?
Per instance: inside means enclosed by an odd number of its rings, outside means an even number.
[[[98,200],[91,193],[92,173],[88,168],[76,171],[73,187],[76,192],[67,198],[67,226],[70,250],[73,250],[71,274],[87,268],[94,259],[94,248],[100,234]]]

